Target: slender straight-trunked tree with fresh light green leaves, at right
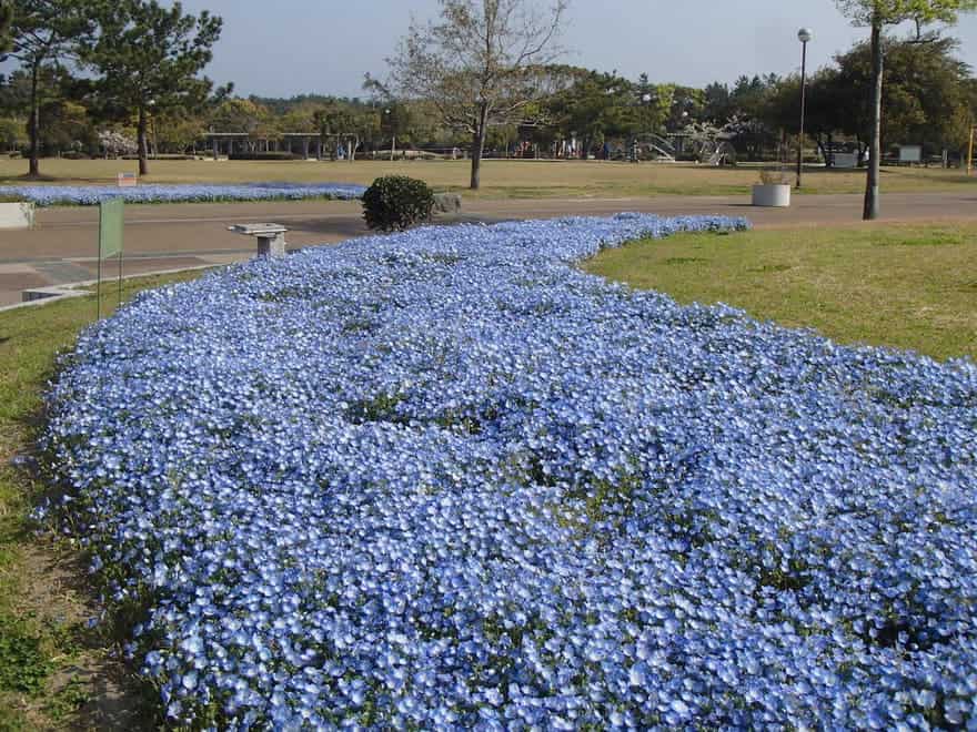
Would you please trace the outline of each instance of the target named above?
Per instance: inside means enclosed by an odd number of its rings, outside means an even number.
[[[886,26],[906,21],[916,23],[917,39],[921,29],[933,22],[954,23],[959,12],[977,8],[977,0],[835,0],[838,9],[856,26],[872,29],[872,128],[868,144],[868,173],[865,181],[863,218],[878,218],[878,180],[882,162],[882,109]]]

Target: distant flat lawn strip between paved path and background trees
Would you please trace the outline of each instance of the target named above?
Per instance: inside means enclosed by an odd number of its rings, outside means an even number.
[[[467,161],[150,161],[151,183],[244,183],[288,181],[345,182],[369,185],[385,174],[420,177],[437,190],[467,190]],[[135,172],[135,161],[41,161],[49,183],[114,184],[121,172]],[[22,183],[27,161],[0,159],[0,185]],[[758,182],[756,165],[712,167],[691,163],[624,163],[604,161],[497,161],[484,162],[482,190],[485,199],[626,197],[648,195],[742,195]],[[858,193],[863,171],[812,169],[805,173],[804,193]],[[977,191],[977,177],[958,170],[886,167],[882,185],[888,192]],[[470,194],[471,195],[471,194]]]

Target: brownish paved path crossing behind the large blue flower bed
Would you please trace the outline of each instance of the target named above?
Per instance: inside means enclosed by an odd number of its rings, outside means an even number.
[[[860,222],[860,195],[798,195],[789,209],[754,209],[743,196],[472,200],[464,203],[463,215],[440,221],[491,223],[622,211],[746,216],[758,228],[872,225]],[[977,194],[884,194],[882,221],[977,221]],[[291,248],[335,243],[367,233],[355,202],[130,205],[125,212],[125,273],[246,260],[253,256],[255,243],[229,232],[228,226],[254,222],[288,226]],[[97,207],[42,209],[34,230],[0,231],[0,306],[19,303],[21,291],[29,287],[92,279],[98,266],[97,241]]]

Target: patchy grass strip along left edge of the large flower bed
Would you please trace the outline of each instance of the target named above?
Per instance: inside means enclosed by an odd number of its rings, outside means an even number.
[[[123,297],[147,287],[200,276],[200,272],[152,276],[124,283]],[[102,297],[102,313],[115,306],[115,293]],[[94,611],[78,577],[52,573],[72,568],[71,552],[56,557],[34,537],[29,518],[44,486],[17,456],[32,455],[41,414],[41,393],[68,349],[94,317],[93,296],[0,313],[0,732],[95,729],[84,704],[103,690],[121,694],[117,709],[135,720],[130,729],[155,729],[145,719],[139,690],[119,691],[103,659],[114,649],[108,627],[87,628]],[[66,580],[79,580],[70,587]],[[117,667],[112,667],[115,669]],[[145,715],[145,716],[144,716]],[[120,728],[121,729],[121,728]]]

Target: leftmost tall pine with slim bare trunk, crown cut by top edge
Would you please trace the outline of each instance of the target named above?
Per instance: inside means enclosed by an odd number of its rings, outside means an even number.
[[[20,62],[30,79],[29,177],[40,175],[41,105],[52,101],[57,88],[43,85],[46,70],[74,58],[79,44],[94,30],[88,0],[13,0],[10,58]]]

